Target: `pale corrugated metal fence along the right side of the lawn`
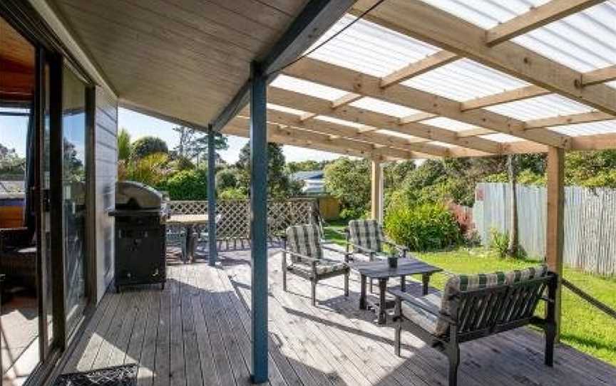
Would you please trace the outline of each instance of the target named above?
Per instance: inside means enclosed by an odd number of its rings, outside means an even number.
[[[518,185],[520,245],[529,256],[545,255],[545,187]],[[508,184],[478,184],[473,221],[482,244],[490,230],[508,231]],[[616,275],[616,189],[565,187],[565,265]]]

